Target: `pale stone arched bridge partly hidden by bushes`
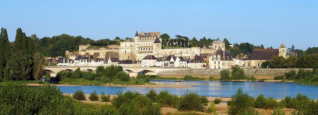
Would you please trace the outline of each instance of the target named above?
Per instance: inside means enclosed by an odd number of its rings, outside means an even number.
[[[60,71],[74,72],[77,68],[80,68],[81,71],[95,72],[97,66],[45,66],[44,70],[49,71],[51,77],[55,77]],[[160,71],[190,70],[190,67],[123,67],[123,70],[129,72],[129,76],[133,77],[141,71],[146,75],[157,75]]]

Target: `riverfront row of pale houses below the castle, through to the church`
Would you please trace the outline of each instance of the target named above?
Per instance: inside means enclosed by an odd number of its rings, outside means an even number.
[[[293,53],[290,55],[297,55]],[[195,69],[228,69],[234,65],[241,68],[259,68],[262,62],[270,61],[275,56],[290,56],[286,52],[284,44],[280,45],[279,49],[253,49],[251,55],[246,57],[236,57],[231,55],[230,51],[223,51],[218,48],[217,51],[207,54],[193,56],[194,58],[185,59],[181,56],[162,55],[156,58],[154,55],[147,55],[142,60],[119,60],[119,58],[93,58],[78,56],[74,60],[66,58],[47,59],[49,63],[56,63],[59,66],[110,66],[120,65],[123,67],[190,67]]]

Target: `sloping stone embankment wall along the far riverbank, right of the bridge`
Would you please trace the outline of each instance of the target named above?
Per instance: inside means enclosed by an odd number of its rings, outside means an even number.
[[[190,70],[174,70],[174,71],[160,71],[157,75],[220,75],[220,71],[224,69],[190,69]],[[232,71],[231,69],[227,69]],[[253,76],[277,76],[284,75],[285,72],[295,70],[296,73],[299,69],[243,69],[245,75]],[[312,70],[312,69],[305,69]]]

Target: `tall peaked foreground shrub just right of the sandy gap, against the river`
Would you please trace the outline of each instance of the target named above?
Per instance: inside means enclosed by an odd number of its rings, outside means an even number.
[[[231,100],[227,102],[229,115],[237,115],[242,112],[254,111],[254,99],[248,95],[247,92],[243,93],[242,88],[239,88]]]

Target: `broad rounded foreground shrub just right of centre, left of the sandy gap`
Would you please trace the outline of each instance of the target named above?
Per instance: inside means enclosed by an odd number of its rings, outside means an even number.
[[[189,92],[187,90],[184,92],[183,96],[180,97],[177,109],[179,111],[199,111],[204,110],[204,104],[202,98],[199,96],[198,92]]]

